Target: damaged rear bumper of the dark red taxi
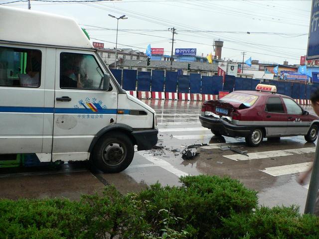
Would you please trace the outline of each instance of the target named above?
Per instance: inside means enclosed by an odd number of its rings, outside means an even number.
[[[225,119],[215,118],[213,116],[199,116],[201,125],[205,128],[210,128],[222,135],[230,137],[246,137],[254,129],[250,125],[236,125]]]

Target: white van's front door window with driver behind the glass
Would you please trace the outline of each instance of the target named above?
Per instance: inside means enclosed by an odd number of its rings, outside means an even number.
[[[102,90],[103,72],[93,55],[60,54],[60,88]]]

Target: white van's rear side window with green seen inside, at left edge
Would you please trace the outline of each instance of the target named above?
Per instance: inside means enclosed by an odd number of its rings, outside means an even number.
[[[39,87],[41,59],[39,50],[0,47],[0,86]]]

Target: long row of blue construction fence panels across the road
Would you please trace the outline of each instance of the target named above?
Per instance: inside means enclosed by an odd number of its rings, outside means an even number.
[[[201,76],[200,74],[178,75],[177,72],[153,70],[142,72],[137,70],[111,70],[112,74],[127,91],[153,91],[191,94],[218,95],[219,91],[251,91],[259,83],[275,85],[277,92],[293,99],[310,99],[311,93],[319,87],[319,83],[309,85],[300,82],[274,81],[261,82],[234,76]]]

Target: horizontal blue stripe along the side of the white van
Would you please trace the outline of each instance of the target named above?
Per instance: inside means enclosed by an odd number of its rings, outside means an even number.
[[[98,112],[93,112],[91,109],[76,109],[76,108],[0,106],[0,112],[116,115],[117,109],[98,109]],[[130,114],[130,110],[124,110],[124,115],[129,115],[129,114]]]

